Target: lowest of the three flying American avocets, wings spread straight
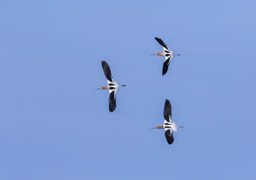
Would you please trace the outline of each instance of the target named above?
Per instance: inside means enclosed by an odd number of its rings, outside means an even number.
[[[172,130],[175,132],[178,130],[178,127],[184,126],[177,126],[175,122],[172,123],[172,106],[168,99],[165,100],[165,108],[163,110],[163,117],[164,117],[164,124],[162,126],[155,126],[151,129],[165,129],[165,137],[168,144],[172,144],[174,142],[174,137]]]

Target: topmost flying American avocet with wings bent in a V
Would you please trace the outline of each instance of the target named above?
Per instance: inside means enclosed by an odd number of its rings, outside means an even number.
[[[175,54],[174,51],[170,51],[168,46],[162,41],[162,39],[155,37],[155,40],[163,47],[162,53],[155,53],[150,55],[158,55],[158,56],[165,56],[165,62],[163,63],[163,73],[162,76],[165,75],[168,71],[169,64],[171,59],[174,59],[174,56],[180,56],[180,54]]]

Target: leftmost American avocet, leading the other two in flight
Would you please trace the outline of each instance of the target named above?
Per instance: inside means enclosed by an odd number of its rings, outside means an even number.
[[[114,112],[116,109],[116,93],[119,91],[120,86],[126,86],[126,85],[119,85],[118,82],[114,81],[110,67],[105,61],[101,61],[101,65],[104,71],[104,74],[107,78],[108,85],[105,87],[100,87],[99,89],[108,89],[109,91],[109,99],[108,99],[108,106],[109,106],[109,111]],[[97,90],[97,89],[95,89]]]

